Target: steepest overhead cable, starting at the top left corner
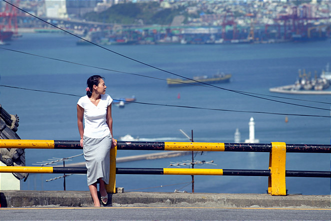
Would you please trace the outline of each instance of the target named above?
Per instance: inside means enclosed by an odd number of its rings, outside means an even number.
[[[14,4],[9,3],[9,2],[6,1],[6,0],[2,0],[2,1],[4,1],[4,2],[10,4],[11,6],[13,6],[13,7],[15,7],[15,8],[17,8],[17,9],[19,9],[19,10],[21,10],[21,11],[23,11],[23,12],[25,12],[25,13],[27,13],[27,14],[29,14],[29,15],[31,15],[31,16],[33,16],[33,17],[35,17],[35,18],[37,18],[37,19],[39,19],[39,20],[41,20],[41,21],[43,21],[43,22],[45,22],[45,23],[47,23],[47,24],[49,24],[49,25],[51,25],[51,26],[53,26],[53,27],[55,27],[55,28],[58,28],[58,29],[60,29],[60,30],[62,30],[62,31],[64,31],[64,32],[70,34],[70,35],[73,35],[73,36],[75,36],[75,37],[77,37],[77,38],[79,38],[79,39],[81,39],[81,40],[84,40],[84,41],[86,41],[86,42],[89,42],[89,43],[91,43],[91,44],[93,44],[93,45],[95,45],[95,46],[97,46],[97,47],[100,47],[100,48],[105,49],[105,50],[107,50],[107,51],[110,51],[110,52],[112,52],[112,53],[114,53],[114,54],[117,54],[117,55],[119,55],[119,56],[122,56],[122,57],[125,57],[125,58],[127,58],[127,59],[130,59],[130,60],[132,60],[132,61],[135,61],[135,62],[138,62],[138,63],[140,63],[140,64],[143,64],[143,65],[149,66],[149,67],[151,67],[151,68],[154,68],[154,69],[157,69],[157,70],[160,70],[160,71],[163,71],[163,72],[166,72],[166,73],[169,73],[169,74],[172,74],[172,75],[175,75],[175,76],[181,77],[181,78],[185,78],[185,79],[187,79],[187,80],[192,80],[192,81],[197,82],[197,83],[200,83],[200,84],[204,84],[204,85],[208,85],[208,86],[211,86],[211,87],[219,88],[219,89],[222,89],[222,90],[231,91],[231,92],[234,92],[234,93],[239,93],[239,94],[242,94],[242,95],[251,96],[251,97],[255,97],[255,98],[259,98],[259,99],[264,99],[264,100],[269,100],[269,101],[274,101],[274,102],[279,102],[279,103],[284,103],[284,104],[290,104],[290,105],[293,105],[292,103],[288,103],[288,102],[283,102],[283,101],[277,101],[277,100],[272,100],[272,99],[268,99],[268,98],[258,97],[258,96],[251,95],[251,94],[247,94],[247,93],[244,93],[244,92],[240,92],[240,91],[236,91],[236,90],[230,90],[230,89],[226,89],[226,88],[218,87],[218,86],[215,86],[215,85],[207,84],[207,83],[204,83],[204,82],[200,82],[200,81],[197,81],[197,80],[194,80],[194,79],[190,79],[190,78],[188,78],[188,77],[181,76],[181,75],[179,75],[179,74],[175,74],[175,73],[169,72],[169,71],[167,71],[167,70],[164,70],[164,69],[161,69],[161,68],[155,67],[155,66],[153,66],[153,65],[150,65],[150,64],[144,63],[144,62],[142,62],[142,61],[136,60],[136,59],[134,59],[134,58],[128,57],[128,56],[126,56],[126,55],[120,54],[120,53],[118,53],[118,52],[115,52],[115,51],[113,51],[113,50],[110,50],[110,49],[108,49],[108,48],[105,48],[105,47],[103,47],[103,46],[101,46],[101,45],[98,45],[98,44],[96,44],[96,43],[93,43],[93,42],[91,42],[91,41],[88,41],[88,40],[86,40],[86,39],[84,39],[84,38],[82,38],[82,37],[79,37],[79,36],[77,36],[77,35],[75,35],[75,34],[69,32],[69,31],[66,31],[66,30],[64,30],[64,29],[62,29],[62,28],[60,28],[60,27],[57,27],[56,25],[54,25],[54,24],[52,24],[52,23],[49,23],[49,22],[47,22],[47,21],[45,21],[45,20],[43,20],[43,19],[41,19],[41,18],[39,18],[39,17],[37,17],[37,16],[35,16],[35,15],[33,15],[33,14],[31,14],[31,13],[29,13],[29,12],[27,12],[27,11],[21,9],[21,8],[19,8],[18,6],[15,6]],[[298,104],[294,104],[294,105],[298,105]],[[309,106],[306,106],[306,105],[298,105],[298,106],[309,107]],[[310,107],[310,108],[311,108],[311,107]],[[313,107],[313,108],[315,108],[315,107]],[[316,108],[316,109],[321,109],[321,108]],[[324,110],[325,110],[325,109],[324,109]],[[328,109],[327,109],[327,110],[328,110]]]

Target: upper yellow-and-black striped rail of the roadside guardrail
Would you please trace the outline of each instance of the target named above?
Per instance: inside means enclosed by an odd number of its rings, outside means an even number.
[[[286,144],[287,153],[331,153],[331,145]],[[79,141],[0,140],[0,148],[81,149]],[[271,152],[270,144],[118,141],[117,150]]]

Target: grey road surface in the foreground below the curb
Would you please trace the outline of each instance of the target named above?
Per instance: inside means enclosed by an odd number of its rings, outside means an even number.
[[[331,220],[331,209],[0,208],[0,220]]]

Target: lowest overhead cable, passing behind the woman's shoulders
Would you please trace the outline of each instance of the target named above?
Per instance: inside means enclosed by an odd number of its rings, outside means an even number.
[[[38,92],[46,92],[46,93],[54,93],[54,94],[62,94],[62,95],[69,95],[69,96],[81,97],[80,95],[74,95],[74,94],[66,94],[66,93],[59,93],[59,92],[53,92],[53,91],[28,89],[28,88],[21,88],[21,87],[8,86],[8,85],[0,85],[0,87],[8,87],[8,88],[15,88],[15,89],[22,89],[22,90],[30,90],[30,91],[38,91]],[[116,100],[116,99],[113,99],[113,100],[114,101],[121,101],[121,100]],[[181,108],[201,109],[201,110],[213,110],[213,111],[228,111],[228,112],[239,112],[239,113],[256,113],[256,114],[273,114],[273,115],[285,115],[285,116],[326,117],[326,118],[331,118],[331,116],[324,116],[324,115],[273,113],[273,112],[264,112],[264,111],[240,111],[240,110],[227,110],[227,109],[217,109],[217,108],[191,107],[191,106],[170,105],[170,104],[155,104],[155,103],[146,103],[146,102],[137,102],[137,101],[126,101],[126,102],[128,102],[128,103],[136,103],[136,104],[145,104],[145,105],[154,105],[154,106],[181,107]]]

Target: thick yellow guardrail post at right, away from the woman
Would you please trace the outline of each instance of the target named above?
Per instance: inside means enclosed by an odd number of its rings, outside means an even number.
[[[283,142],[271,142],[271,145],[272,149],[269,154],[270,177],[268,180],[268,194],[272,196],[286,196],[286,144]]]

